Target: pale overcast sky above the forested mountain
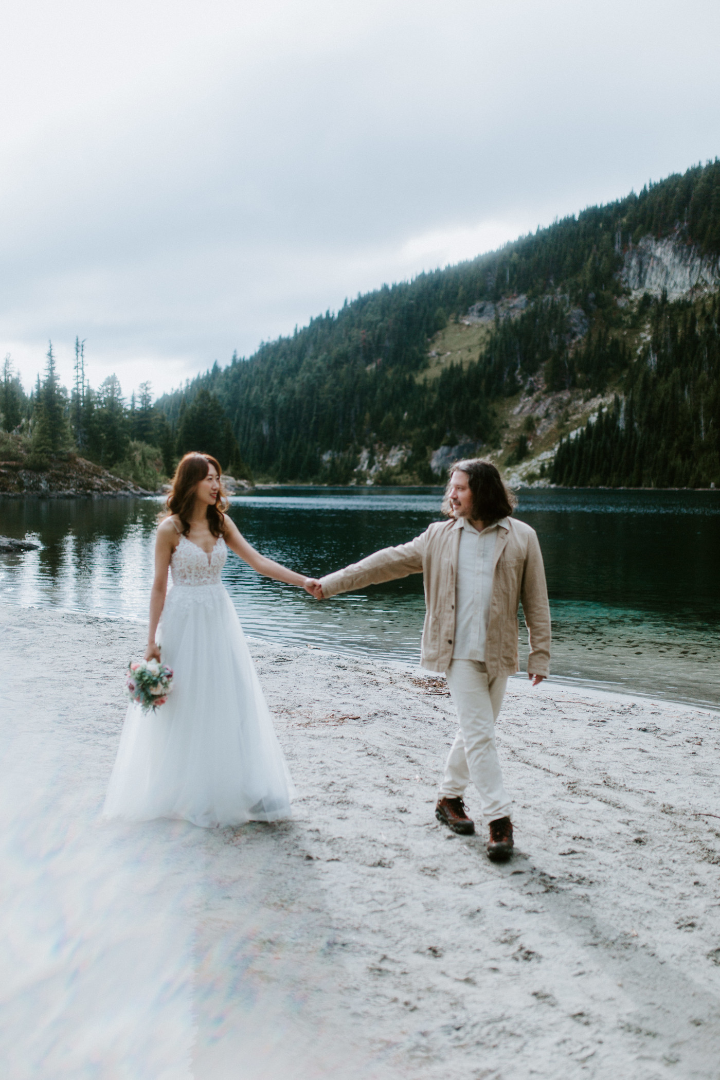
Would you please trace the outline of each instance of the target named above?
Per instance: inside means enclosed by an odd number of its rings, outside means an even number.
[[[3,0],[0,350],[155,393],[720,154],[717,0]]]

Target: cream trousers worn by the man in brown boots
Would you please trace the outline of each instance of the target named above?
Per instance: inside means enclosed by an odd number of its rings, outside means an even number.
[[[480,796],[485,822],[510,818],[511,800],[503,786],[495,745],[495,720],[507,676],[488,679],[485,664],[477,660],[453,660],[446,675],[460,730],[448,754],[439,794],[462,797],[472,780]]]

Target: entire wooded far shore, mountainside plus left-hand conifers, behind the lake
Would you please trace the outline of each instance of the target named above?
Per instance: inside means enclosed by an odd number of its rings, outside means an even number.
[[[480,450],[515,483],[720,487],[719,256],[716,160],[345,301],[154,404],[149,383],[92,389],[79,341],[69,393],[52,346],[29,395],[6,360],[0,450],[142,486],[203,448],[261,480],[439,482]]]

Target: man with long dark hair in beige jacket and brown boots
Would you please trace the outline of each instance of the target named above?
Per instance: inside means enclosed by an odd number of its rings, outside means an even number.
[[[517,610],[530,640],[528,676],[549,672],[551,618],[534,529],[512,517],[514,499],[489,461],[458,461],[443,501],[449,521],[434,522],[409,543],[384,548],[322,578],[317,599],[408,573],[422,573],[425,623],[420,663],[445,672],[459,731],[445,765],[435,815],[456,833],[474,833],[463,795],[472,780],[489,824],[488,855],[513,849],[511,799],[503,785],[494,723],[518,669]]]

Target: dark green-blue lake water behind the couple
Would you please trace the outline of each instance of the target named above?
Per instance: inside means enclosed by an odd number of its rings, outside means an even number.
[[[263,554],[320,576],[439,517],[439,489],[283,488],[233,500]],[[0,502],[0,532],[42,550],[0,555],[0,596],[22,605],[147,618],[160,500]],[[527,491],[563,680],[720,705],[720,492]],[[317,604],[230,556],[225,581],[246,632],[417,662],[422,578]],[[525,638],[525,627],[520,640]]]

